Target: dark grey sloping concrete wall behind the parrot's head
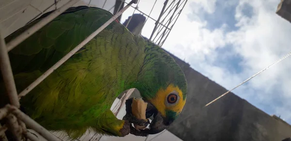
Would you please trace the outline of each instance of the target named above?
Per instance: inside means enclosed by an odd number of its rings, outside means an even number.
[[[291,137],[291,125],[272,117],[244,99],[171,56],[180,65],[188,82],[188,97],[181,116],[168,130],[183,141],[282,141]],[[176,124],[175,124],[176,123]]]

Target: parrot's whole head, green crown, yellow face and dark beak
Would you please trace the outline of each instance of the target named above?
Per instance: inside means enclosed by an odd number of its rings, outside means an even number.
[[[153,115],[146,134],[157,134],[171,125],[183,110],[187,97],[185,75],[174,59],[161,47],[147,43],[144,65],[138,74],[138,85],[146,101],[146,118]]]

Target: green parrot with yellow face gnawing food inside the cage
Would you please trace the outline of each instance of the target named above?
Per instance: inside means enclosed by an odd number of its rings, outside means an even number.
[[[52,11],[51,11],[52,12]],[[6,43],[32,27],[44,14],[5,38]],[[96,7],[71,7],[9,52],[20,93],[53,64],[81,43],[113,15]],[[9,103],[0,81],[0,106]],[[117,119],[110,110],[123,91],[136,88],[148,102],[146,118],[131,113]],[[187,95],[184,73],[161,47],[133,35],[118,20],[57,68],[20,100],[21,110],[50,131],[65,131],[70,139],[86,131],[124,137],[147,136],[164,130],[182,111]],[[148,125],[136,130],[132,125]]]

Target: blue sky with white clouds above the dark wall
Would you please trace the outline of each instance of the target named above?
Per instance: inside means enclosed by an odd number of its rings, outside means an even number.
[[[149,14],[154,2],[140,0],[138,7]],[[157,0],[153,18],[163,2]],[[275,14],[278,2],[188,0],[162,47],[229,90],[291,51],[291,23]],[[132,13],[133,8],[125,11],[121,22]],[[154,23],[146,22],[144,36],[150,36]],[[290,61],[286,58],[233,92],[291,124]]]

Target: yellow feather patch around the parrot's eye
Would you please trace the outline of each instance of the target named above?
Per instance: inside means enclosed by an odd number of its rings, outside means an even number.
[[[180,97],[176,104],[168,104],[166,98],[168,94],[171,92],[176,91],[178,93],[178,96]],[[159,91],[157,92],[156,96],[149,100],[150,103],[152,103],[157,110],[159,110],[162,114],[162,116],[166,116],[166,111],[165,110],[172,110],[178,113],[180,113],[183,110],[183,107],[186,103],[186,99],[183,100],[183,93],[182,91],[178,88],[178,86],[174,86],[173,84],[168,85],[166,89],[160,88]]]

